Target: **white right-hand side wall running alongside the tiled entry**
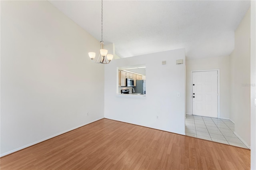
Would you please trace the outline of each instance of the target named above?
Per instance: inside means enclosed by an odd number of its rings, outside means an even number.
[[[235,31],[230,59],[230,119],[235,123],[235,133],[250,146],[250,8]]]

